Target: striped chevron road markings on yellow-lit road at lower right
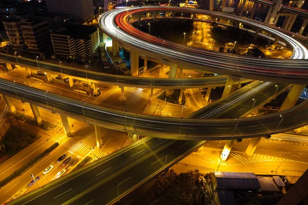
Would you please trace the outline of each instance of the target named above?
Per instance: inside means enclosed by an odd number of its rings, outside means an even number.
[[[267,156],[263,154],[254,154],[251,159],[246,159],[242,155],[234,152],[229,153],[232,157],[240,161],[241,163],[254,163],[254,162],[262,162],[262,161],[292,161],[291,159],[283,159],[280,157]]]

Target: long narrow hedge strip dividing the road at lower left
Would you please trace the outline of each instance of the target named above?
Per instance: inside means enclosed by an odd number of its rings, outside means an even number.
[[[46,149],[44,152],[41,154],[37,155],[34,159],[26,163],[23,167],[20,169],[16,170],[14,173],[12,173],[10,176],[6,177],[2,181],[0,181],[0,188],[6,185],[8,182],[13,180],[15,177],[21,175],[23,172],[25,172],[27,169],[29,169],[34,163],[37,161],[41,160],[43,157],[45,157],[47,154],[49,154],[52,150],[54,150],[57,146],[59,146],[58,142],[55,142],[52,146],[50,146],[48,149]]]

